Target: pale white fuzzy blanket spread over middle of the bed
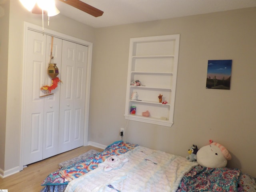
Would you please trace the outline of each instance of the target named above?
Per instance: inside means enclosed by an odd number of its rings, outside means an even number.
[[[184,157],[142,146],[118,157],[129,161],[109,172],[98,167],[72,180],[65,192],[111,192],[108,185],[121,192],[175,192],[184,174],[198,165]]]

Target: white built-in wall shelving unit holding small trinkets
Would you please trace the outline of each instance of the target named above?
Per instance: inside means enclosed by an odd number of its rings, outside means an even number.
[[[130,39],[126,107],[124,117],[163,126],[172,126],[178,69],[180,35]],[[132,82],[139,80],[140,86]],[[132,93],[137,92],[136,100]],[[159,102],[159,95],[162,102]],[[130,109],[136,106],[136,113]],[[150,116],[142,116],[148,111]]]

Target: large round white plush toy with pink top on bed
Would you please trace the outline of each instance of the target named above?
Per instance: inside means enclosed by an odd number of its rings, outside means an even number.
[[[231,160],[228,150],[212,140],[210,140],[210,145],[200,148],[196,156],[199,165],[210,168],[226,167],[227,160]]]

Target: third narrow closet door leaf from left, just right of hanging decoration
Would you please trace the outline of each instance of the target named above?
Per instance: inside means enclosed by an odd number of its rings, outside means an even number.
[[[72,149],[75,53],[76,44],[63,40],[61,70],[63,84],[60,87],[59,153]]]

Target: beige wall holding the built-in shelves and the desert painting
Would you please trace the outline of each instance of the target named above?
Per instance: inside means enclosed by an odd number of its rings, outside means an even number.
[[[256,176],[256,8],[98,28],[94,41],[89,141],[124,140],[187,156],[212,139],[233,156],[228,166]],[[129,40],[180,34],[174,125],[124,119]],[[208,60],[232,59],[230,90],[206,89]]]

